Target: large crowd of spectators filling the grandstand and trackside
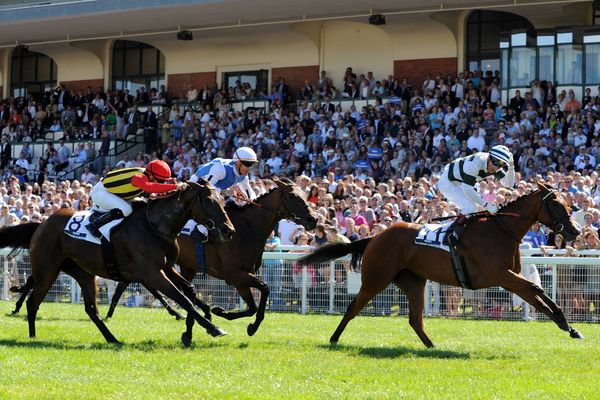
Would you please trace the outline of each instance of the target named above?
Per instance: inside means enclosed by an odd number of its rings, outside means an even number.
[[[180,97],[191,103],[173,102],[162,113],[153,106],[140,112],[138,105],[166,104],[165,88],[134,96],[127,90],[73,93],[61,87],[39,102],[7,99],[0,106],[3,145],[30,142],[45,129],[62,130],[65,140],[119,139],[144,129],[156,145],[103,170],[90,164],[92,170],[72,182],[30,183],[7,161],[0,166],[0,226],[44,220],[61,207],[89,208],[92,185],[110,168],[161,158],[178,179],[188,179],[199,165],[249,146],[259,158],[251,174],[258,194],[266,190],[259,178],[289,177],[320,215],[315,234],[280,225],[281,243],[356,240],[398,221],[426,223],[455,215],[456,207],[436,187],[444,165],[504,144],[514,154],[517,184],[502,188],[483,181],[477,189],[484,199],[501,206],[535,189],[534,179],[542,177],[560,190],[584,227],[569,245],[598,247],[600,88],[585,89],[578,99],[572,90],[557,92],[552,82],[534,80],[504,104],[500,76],[491,71],[427,74],[423,82],[410,83],[348,68],[341,78],[336,87],[323,71],[297,93],[278,78],[268,95],[242,82],[220,90],[190,87]],[[268,112],[231,107],[232,101],[248,98],[268,100]],[[360,109],[343,109],[339,102],[366,98],[372,103]],[[549,234],[534,227],[524,240],[548,246]]]

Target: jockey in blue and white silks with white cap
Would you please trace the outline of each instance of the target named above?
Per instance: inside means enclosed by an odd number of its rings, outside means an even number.
[[[215,158],[201,165],[190,181],[197,182],[198,179],[204,178],[217,190],[233,187],[235,197],[237,197],[236,204],[242,204],[243,199],[254,200],[256,198],[254,190],[250,187],[248,174],[257,162],[254,150],[249,147],[240,147],[235,151],[231,160]],[[195,234],[193,236],[205,242],[208,238],[208,230],[204,225],[197,225],[197,228],[192,231]]]

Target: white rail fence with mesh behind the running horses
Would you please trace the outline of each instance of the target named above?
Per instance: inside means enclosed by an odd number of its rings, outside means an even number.
[[[265,252],[258,276],[271,289],[268,309],[273,312],[344,313],[360,288],[360,271],[352,270],[349,258],[301,267],[296,260],[309,247],[280,246],[280,251]],[[291,250],[291,252],[290,252]],[[0,299],[16,300],[19,293],[9,288],[23,285],[31,273],[27,252],[8,259],[9,251],[0,250],[2,285]],[[542,257],[539,250],[522,251],[522,274],[541,285],[565,311],[571,321],[597,322],[600,316],[600,251],[587,250],[566,256],[565,251],[550,250]],[[100,304],[107,304],[116,283],[98,279]],[[197,292],[210,304],[227,309],[245,305],[234,287],[224,281],[197,275]],[[258,299],[259,293],[255,291]],[[61,273],[46,296],[46,301],[81,302],[74,279]],[[120,304],[129,307],[160,307],[156,299],[139,284],[131,284]],[[118,310],[117,310],[118,312]],[[362,311],[364,315],[406,315],[405,295],[390,285]],[[436,282],[427,282],[425,315],[476,319],[546,319],[527,303],[502,288],[467,290]]]

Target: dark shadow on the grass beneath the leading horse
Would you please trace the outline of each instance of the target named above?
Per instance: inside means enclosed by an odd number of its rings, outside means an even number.
[[[401,357],[419,357],[419,358],[439,358],[439,359],[469,359],[469,353],[440,350],[440,349],[414,349],[410,347],[363,347],[347,344],[319,344],[320,347],[329,351],[338,351],[370,358],[401,358]]]

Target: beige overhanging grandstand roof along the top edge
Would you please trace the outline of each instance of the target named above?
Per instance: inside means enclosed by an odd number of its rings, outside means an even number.
[[[11,4],[12,3],[12,4]],[[96,38],[173,34],[310,20],[364,19],[474,8],[556,15],[585,12],[590,0],[53,0],[9,2],[0,9],[0,47]],[[541,7],[541,5],[544,5]],[[540,15],[540,13],[542,15]]]

